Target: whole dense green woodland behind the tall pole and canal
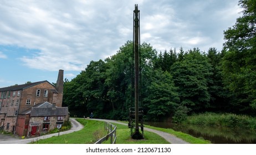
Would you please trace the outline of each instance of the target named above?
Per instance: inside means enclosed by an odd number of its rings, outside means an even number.
[[[182,121],[201,112],[255,116],[256,1],[241,0],[242,16],[224,31],[223,49],[170,49],[159,53],[141,44],[141,106],[146,120]],[[64,81],[63,106],[71,115],[126,120],[134,107],[132,41],[115,55],[91,61]]]

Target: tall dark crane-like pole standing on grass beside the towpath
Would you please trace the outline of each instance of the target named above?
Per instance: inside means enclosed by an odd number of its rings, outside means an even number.
[[[139,131],[139,35],[140,35],[140,19],[138,5],[134,10],[134,53],[135,53],[135,132],[132,134],[133,139],[142,139],[143,136]]]

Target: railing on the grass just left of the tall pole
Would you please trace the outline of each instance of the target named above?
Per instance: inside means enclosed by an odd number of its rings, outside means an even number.
[[[98,141],[95,142],[95,144],[101,144],[102,142],[107,141],[109,139],[109,137],[110,137],[110,144],[116,143],[116,137],[117,137],[116,136],[116,126],[112,125],[109,122],[105,122],[105,130],[107,130],[107,135],[100,138]]]

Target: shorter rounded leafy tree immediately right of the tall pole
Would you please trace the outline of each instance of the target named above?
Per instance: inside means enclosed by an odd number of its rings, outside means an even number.
[[[147,91],[144,101],[149,120],[159,121],[160,118],[173,116],[180,99],[170,73],[153,71]]]

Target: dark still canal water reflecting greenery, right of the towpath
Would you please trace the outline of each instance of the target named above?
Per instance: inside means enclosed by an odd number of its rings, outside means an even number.
[[[170,122],[145,122],[145,125],[172,128],[214,144],[256,144],[256,132],[231,128],[176,125]]]

